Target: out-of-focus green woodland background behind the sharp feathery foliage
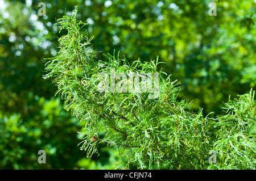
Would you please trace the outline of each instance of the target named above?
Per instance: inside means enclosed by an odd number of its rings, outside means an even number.
[[[39,16],[39,2],[46,16]],[[209,16],[209,3],[217,16]],[[56,19],[75,6],[98,59],[104,52],[135,61],[155,59],[181,82],[179,99],[204,114],[221,113],[229,95],[256,85],[256,1],[0,0],[0,169],[113,169],[121,160],[105,144],[86,158],[77,146],[82,125],[44,80],[44,58],[57,52]],[[102,135],[103,136],[103,135]],[[46,150],[46,164],[38,151]]]

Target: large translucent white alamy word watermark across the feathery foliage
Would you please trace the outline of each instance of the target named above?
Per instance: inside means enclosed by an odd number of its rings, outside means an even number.
[[[152,87],[153,79],[154,87]],[[108,73],[98,74],[98,80],[100,81],[97,85],[98,92],[152,93],[148,95],[148,99],[156,99],[159,95],[159,73],[138,73],[131,71],[115,73],[115,69],[112,68],[110,69],[110,84]]]

